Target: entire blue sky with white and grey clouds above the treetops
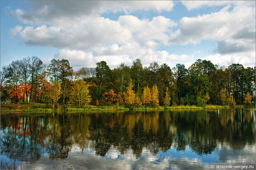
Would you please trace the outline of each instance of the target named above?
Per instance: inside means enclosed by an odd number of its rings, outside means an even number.
[[[74,70],[197,59],[255,66],[255,1],[0,1],[1,67],[27,56]]]

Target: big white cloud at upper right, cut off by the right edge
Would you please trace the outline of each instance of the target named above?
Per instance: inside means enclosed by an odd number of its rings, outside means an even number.
[[[251,37],[255,35],[255,4],[228,9],[230,6],[211,14],[183,17],[178,22],[178,30],[171,34],[170,43],[185,45],[207,39],[231,41],[248,37],[255,41],[255,36]],[[244,33],[244,30],[247,31]]]

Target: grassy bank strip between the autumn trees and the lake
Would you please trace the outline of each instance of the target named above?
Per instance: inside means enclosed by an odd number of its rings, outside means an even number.
[[[158,106],[158,107],[133,107],[126,108],[125,106],[93,106],[87,105],[84,107],[60,105],[57,109],[52,109],[49,106],[41,103],[33,104],[2,104],[1,112],[100,112],[100,111],[149,111],[149,110],[171,110],[171,109],[223,109],[230,108],[228,105],[206,105],[206,106]],[[236,105],[235,108],[244,108],[243,105]]]

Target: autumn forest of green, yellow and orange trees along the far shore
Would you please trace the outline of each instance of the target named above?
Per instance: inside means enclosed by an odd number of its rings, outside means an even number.
[[[95,68],[74,71],[66,59],[44,64],[37,56],[12,61],[1,70],[1,103],[59,105],[254,105],[256,68],[231,64],[227,68],[198,59],[188,69],[156,62],[143,67],[121,63],[110,69],[105,61]]]

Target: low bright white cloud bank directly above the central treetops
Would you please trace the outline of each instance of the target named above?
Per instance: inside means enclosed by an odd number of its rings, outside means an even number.
[[[57,59],[68,59],[69,63],[73,66],[74,70],[78,70],[81,67],[95,67],[97,62],[106,61],[110,68],[116,68],[120,63],[124,62],[127,65],[132,65],[136,58],[140,58],[143,65],[149,65],[153,61],[159,64],[167,63],[168,65],[174,65],[178,61],[186,61],[191,59],[186,54],[174,55],[169,54],[167,51],[154,51],[152,49],[143,49],[138,53],[135,50],[119,50],[126,47],[118,47],[115,54],[111,52],[111,46],[109,46],[109,54],[106,55],[104,50],[108,50],[108,47],[102,48],[102,51],[82,51],[82,50],[70,50],[61,49],[58,54],[54,55]],[[136,47],[135,47],[136,48]],[[143,47],[142,47],[143,48]],[[131,48],[132,49],[132,48]]]

